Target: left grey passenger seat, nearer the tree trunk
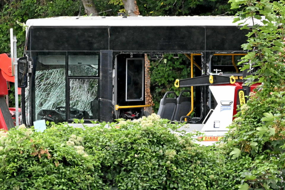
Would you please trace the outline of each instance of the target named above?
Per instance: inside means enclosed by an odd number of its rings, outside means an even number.
[[[167,95],[169,94],[174,94],[174,98],[167,98]],[[173,91],[166,92],[163,98],[160,100],[160,105],[157,115],[159,115],[163,119],[168,119],[173,121],[177,105],[176,97],[177,96],[175,92]]]

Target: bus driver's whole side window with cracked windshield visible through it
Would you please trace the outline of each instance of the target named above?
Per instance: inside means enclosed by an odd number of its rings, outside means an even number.
[[[58,54],[37,56],[34,121],[67,121],[66,104],[69,105],[69,119],[97,120],[99,56],[66,55],[66,52],[61,52],[64,55]]]

